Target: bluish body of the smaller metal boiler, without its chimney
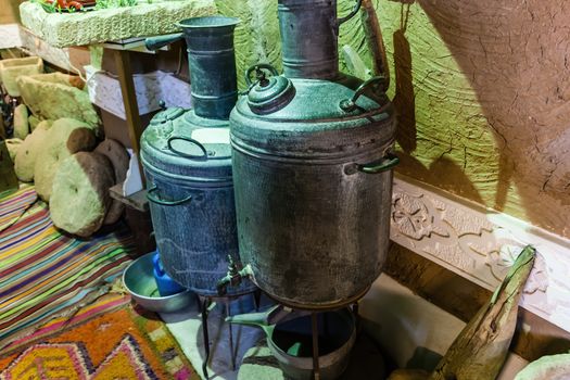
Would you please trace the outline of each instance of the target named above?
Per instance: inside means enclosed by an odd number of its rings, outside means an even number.
[[[238,257],[228,121],[170,107],[141,138],[156,244],[168,275],[202,295],[216,295],[228,255]],[[249,281],[229,289],[253,290]]]

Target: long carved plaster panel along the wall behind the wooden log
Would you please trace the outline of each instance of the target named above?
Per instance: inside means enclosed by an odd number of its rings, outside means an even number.
[[[570,331],[570,240],[438,189],[394,178],[391,239],[494,290],[522,248],[537,250],[522,307]]]

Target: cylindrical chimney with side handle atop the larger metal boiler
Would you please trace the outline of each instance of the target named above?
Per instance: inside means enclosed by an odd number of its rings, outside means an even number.
[[[334,79],[339,75],[339,26],[360,8],[337,17],[337,0],[279,0],[283,72],[289,78]]]

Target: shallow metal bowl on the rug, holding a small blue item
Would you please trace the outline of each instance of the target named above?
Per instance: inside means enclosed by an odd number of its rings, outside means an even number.
[[[123,283],[132,300],[145,309],[159,313],[177,312],[189,306],[194,301],[190,290],[166,296],[159,294],[159,287],[152,274],[153,253],[135,259],[123,273]]]

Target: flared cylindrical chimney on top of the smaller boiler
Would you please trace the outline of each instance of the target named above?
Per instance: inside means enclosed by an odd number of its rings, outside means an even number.
[[[188,47],[192,105],[198,116],[228,119],[238,100],[233,29],[239,20],[224,16],[181,21]]]

